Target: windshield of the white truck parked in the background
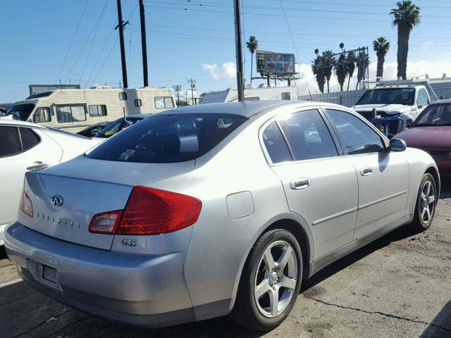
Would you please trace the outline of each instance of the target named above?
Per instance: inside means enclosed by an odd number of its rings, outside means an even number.
[[[357,101],[360,104],[403,104],[412,106],[415,99],[414,88],[369,89]]]

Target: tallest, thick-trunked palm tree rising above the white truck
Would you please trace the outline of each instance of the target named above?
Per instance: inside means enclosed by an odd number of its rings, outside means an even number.
[[[396,6],[390,15],[393,15],[393,25],[397,26],[397,77],[406,80],[409,37],[414,26],[420,23],[420,8],[412,1],[397,2]]]

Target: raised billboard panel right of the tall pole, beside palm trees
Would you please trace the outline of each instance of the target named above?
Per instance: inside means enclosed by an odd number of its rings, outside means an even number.
[[[265,75],[295,74],[295,54],[257,50],[257,72]]]

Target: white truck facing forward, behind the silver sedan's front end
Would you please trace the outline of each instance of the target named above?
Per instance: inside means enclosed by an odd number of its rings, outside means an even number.
[[[412,123],[437,96],[428,82],[378,82],[352,106],[388,137],[393,137]]]

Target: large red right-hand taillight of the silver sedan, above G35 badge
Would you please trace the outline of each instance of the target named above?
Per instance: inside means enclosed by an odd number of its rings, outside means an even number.
[[[202,203],[194,197],[148,187],[134,187],[124,211],[101,213],[92,218],[89,231],[110,234],[164,234],[196,223]],[[121,218],[116,224],[112,215]],[[122,215],[119,215],[119,214]],[[111,227],[99,231],[94,225],[104,216]]]

